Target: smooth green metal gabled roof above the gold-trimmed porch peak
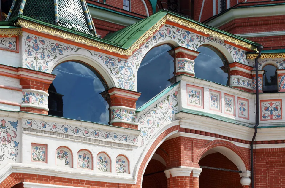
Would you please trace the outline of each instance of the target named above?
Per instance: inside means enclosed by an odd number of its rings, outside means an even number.
[[[218,28],[212,27],[212,26],[208,26],[204,23],[200,23],[198,21],[192,20],[190,18],[175,14],[173,12],[167,11],[167,10],[160,10],[159,12],[157,12],[156,14],[153,14],[137,23],[134,23],[126,28],[123,28],[115,33],[109,34],[107,36],[105,36],[104,39],[110,40],[112,42],[117,43],[119,46],[123,47],[123,48],[129,48],[132,46],[132,44],[134,44],[134,42],[136,42],[145,32],[147,32],[151,27],[153,27],[157,22],[159,22],[159,20],[161,20],[165,15],[170,14],[170,15],[174,15],[176,17],[180,17],[181,19],[184,20],[188,20],[190,22],[196,23],[197,25],[203,26],[205,28],[208,28],[210,30],[214,30],[217,31],[219,33],[231,36],[233,38],[239,39],[241,41],[244,41],[248,44],[252,44],[254,46],[260,46],[260,44],[256,43],[256,42],[252,42],[248,39],[245,39],[243,37],[231,34],[229,32],[220,30]]]

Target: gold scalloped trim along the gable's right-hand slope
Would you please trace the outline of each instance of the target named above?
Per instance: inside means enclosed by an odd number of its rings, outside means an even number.
[[[180,25],[183,25],[183,26],[186,26],[186,27],[189,27],[189,28],[193,28],[197,31],[202,31],[203,33],[205,34],[209,34],[211,36],[215,36],[215,37],[219,37],[220,39],[224,39],[224,40],[227,40],[229,42],[232,42],[232,43],[235,43],[237,45],[240,45],[242,47],[245,47],[245,48],[248,48],[250,50],[254,50],[254,51],[257,51],[257,48],[251,44],[248,44],[247,42],[244,42],[244,41],[241,41],[239,39],[236,39],[234,37],[231,37],[231,36],[228,36],[228,35],[225,35],[225,34],[222,34],[222,33],[219,33],[217,31],[213,31],[211,29],[208,29],[208,28],[205,28],[203,26],[200,26],[196,23],[193,23],[193,22],[190,22],[188,20],[183,20],[179,17],[176,17],[174,15],[170,15],[168,14],[167,15],[167,20],[170,20],[172,22],[176,22],[176,23],[179,23]]]

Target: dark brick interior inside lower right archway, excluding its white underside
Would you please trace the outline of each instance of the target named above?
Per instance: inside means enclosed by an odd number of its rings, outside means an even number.
[[[214,153],[213,153],[214,152]],[[206,155],[206,156],[205,156]],[[242,188],[238,167],[227,157],[214,150],[209,150],[199,162],[202,173],[199,177],[199,188]],[[213,167],[220,169],[203,168]],[[232,171],[224,171],[228,169]],[[235,172],[234,172],[235,171]]]

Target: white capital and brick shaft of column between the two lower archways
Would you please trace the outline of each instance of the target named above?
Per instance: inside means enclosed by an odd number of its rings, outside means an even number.
[[[192,172],[192,174],[191,174]],[[179,167],[165,170],[167,188],[199,187],[199,176],[201,168]]]

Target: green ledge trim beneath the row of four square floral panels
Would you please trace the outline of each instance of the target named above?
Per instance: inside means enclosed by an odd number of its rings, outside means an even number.
[[[216,120],[221,120],[221,121],[228,122],[228,123],[234,123],[234,124],[242,125],[242,126],[245,126],[245,127],[248,127],[248,128],[254,128],[252,126],[239,123],[239,122],[237,122],[235,120],[232,120],[231,118],[227,118],[227,117],[224,117],[224,116],[221,116],[221,115],[218,115],[218,114],[209,114],[208,112],[191,110],[191,109],[187,109],[187,108],[182,108],[181,111],[176,112],[175,114],[178,114],[180,112],[188,113],[188,114],[194,114],[194,115],[200,115],[200,116],[205,116],[205,117],[211,117],[211,118],[216,119]]]

